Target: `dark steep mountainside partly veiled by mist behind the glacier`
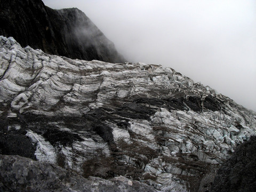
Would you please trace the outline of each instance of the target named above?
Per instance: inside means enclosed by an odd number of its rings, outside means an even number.
[[[41,0],[2,0],[0,35],[72,59],[124,62],[112,42],[76,9],[53,10]]]

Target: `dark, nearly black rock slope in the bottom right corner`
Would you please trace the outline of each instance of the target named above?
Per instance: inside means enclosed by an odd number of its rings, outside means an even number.
[[[255,136],[238,146],[235,153],[220,167],[211,191],[256,191]]]

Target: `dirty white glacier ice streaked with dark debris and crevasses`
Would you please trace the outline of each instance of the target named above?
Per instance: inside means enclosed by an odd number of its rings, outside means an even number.
[[[3,155],[84,178],[122,175],[161,191],[206,191],[255,134],[253,111],[171,68],[72,60],[5,37],[0,51]]]

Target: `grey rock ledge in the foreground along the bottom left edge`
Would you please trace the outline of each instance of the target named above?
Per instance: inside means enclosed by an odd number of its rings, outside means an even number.
[[[154,188],[122,176],[105,180],[83,178],[57,165],[20,156],[0,155],[0,191],[156,191]]]

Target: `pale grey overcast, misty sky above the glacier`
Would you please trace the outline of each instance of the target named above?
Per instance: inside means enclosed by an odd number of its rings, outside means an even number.
[[[255,0],[43,0],[77,7],[131,62],[172,67],[256,111]]]

